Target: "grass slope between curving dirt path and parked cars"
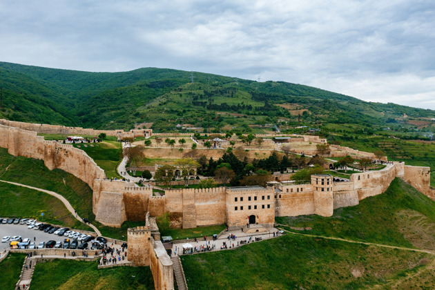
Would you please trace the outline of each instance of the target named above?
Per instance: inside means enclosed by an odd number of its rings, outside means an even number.
[[[93,231],[90,226],[76,220],[60,200],[48,193],[0,182],[0,197],[0,216],[37,218],[50,224]]]

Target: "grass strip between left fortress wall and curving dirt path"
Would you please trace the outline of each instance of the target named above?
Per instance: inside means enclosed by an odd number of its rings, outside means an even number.
[[[42,160],[15,157],[8,154],[5,148],[0,148],[0,180],[59,193],[81,217],[88,218],[91,222],[95,220],[92,212],[93,192],[88,184],[60,169],[48,170]]]

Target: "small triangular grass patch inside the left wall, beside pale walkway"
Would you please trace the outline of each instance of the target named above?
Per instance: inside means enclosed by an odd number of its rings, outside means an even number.
[[[104,141],[90,144],[79,143],[74,144],[73,146],[85,151],[89,157],[91,157],[95,163],[104,170],[106,177],[121,177],[117,173],[117,166],[122,160],[121,143],[116,141]]]

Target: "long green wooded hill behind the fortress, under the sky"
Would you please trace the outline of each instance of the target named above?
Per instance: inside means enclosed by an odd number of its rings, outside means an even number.
[[[334,131],[329,125],[339,124],[374,133],[385,126],[416,127],[398,124],[403,114],[435,117],[434,110],[370,103],[300,84],[160,68],[81,72],[0,62],[0,87],[0,117],[93,128],[153,122],[156,131],[191,124],[215,132],[264,133],[298,125]]]

